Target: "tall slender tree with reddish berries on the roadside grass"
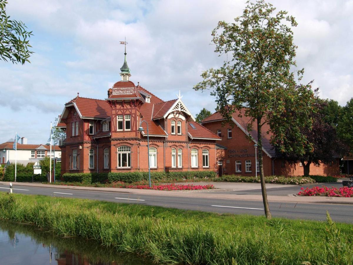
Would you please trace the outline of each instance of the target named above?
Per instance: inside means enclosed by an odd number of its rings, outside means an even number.
[[[310,84],[297,85],[295,51],[292,27],[297,23],[286,11],[274,13],[273,5],[263,0],[247,2],[234,23],[220,21],[213,30],[215,52],[227,54],[219,69],[202,73],[204,80],[194,89],[211,89],[216,96],[217,108],[226,122],[232,113],[241,110],[250,118],[247,128],[257,129],[257,145],[262,150],[263,133],[273,133],[273,143],[279,150],[304,152],[306,139],[299,125],[311,126],[309,117],[313,100]],[[298,80],[304,70],[297,71]],[[294,116],[293,116],[294,114]],[[264,124],[270,131],[263,131]],[[297,141],[287,140],[288,131]],[[267,201],[263,171],[263,155],[258,153],[263,204],[267,218],[271,213]]]

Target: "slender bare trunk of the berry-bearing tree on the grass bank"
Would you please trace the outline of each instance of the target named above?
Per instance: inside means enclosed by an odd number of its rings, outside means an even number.
[[[264,176],[264,169],[263,169],[263,160],[262,160],[262,135],[261,135],[261,117],[257,118],[257,145],[258,145],[258,160],[259,160],[259,170],[260,170],[260,181],[261,181],[261,191],[262,191],[262,200],[264,203],[264,210],[267,219],[271,219],[271,212],[270,207],[267,201],[267,192],[266,192],[266,185],[265,185],[265,176]],[[255,161],[255,170],[256,168],[256,161]]]

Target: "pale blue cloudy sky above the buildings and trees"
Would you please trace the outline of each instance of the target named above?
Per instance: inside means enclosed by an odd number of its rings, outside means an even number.
[[[104,99],[120,80],[126,36],[131,80],[163,100],[183,101],[195,115],[214,111],[209,92],[195,92],[200,74],[222,58],[210,45],[219,20],[232,22],[245,0],[10,0],[7,14],[31,37],[31,64],[0,61],[0,143],[15,131],[28,143],[45,143],[50,121],[80,96]],[[272,0],[298,22],[294,41],[304,82],[315,80],[322,98],[340,105],[353,96],[353,1]]]

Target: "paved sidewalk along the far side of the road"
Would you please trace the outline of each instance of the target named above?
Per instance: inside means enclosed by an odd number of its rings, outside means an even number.
[[[208,182],[209,183],[209,182]],[[214,198],[214,199],[237,199],[237,200],[259,200],[262,201],[262,195],[238,195],[238,194],[215,194],[213,192],[200,193],[196,191],[164,191],[164,190],[147,190],[147,189],[126,189],[126,188],[96,188],[96,187],[79,187],[79,186],[63,186],[63,185],[51,185],[41,183],[28,183],[28,182],[16,182],[12,183],[13,186],[26,186],[26,187],[38,187],[38,188],[54,188],[54,189],[70,189],[70,190],[87,190],[94,192],[116,192],[116,193],[129,193],[135,195],[156,195],[156,196],[180,196],[186,198]],[[212,183],[213,184],[213,183]],[[225,187],[234,183],[221,183]],[[259,183],[238,183],[244,184],[243,189],[258,189]],[[250,184],[255,184],[249,186]],[[223,186],[224,185],[224,186]],[[274,187],[272,185],[282,184],[266,184],[267,188]],[[0,187],[9,187],[10,182],[0,181]],[[283,186],[283,185],[282,185]],[[216,185],[217,188],[217,185]],[[240,187],[239,187],[240,188]],[[205,190],[203,190],[205,191]],[[329,203],[329,204],[352,204],[353,198],[340,198],[340,197],[325,197],[325,196],[267,196],[269,201],[276,202],[301,202],[301,203]]]

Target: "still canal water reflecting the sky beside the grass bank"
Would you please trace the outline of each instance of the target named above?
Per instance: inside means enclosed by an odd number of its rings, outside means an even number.
[[[143,258],[117,253],[91,240],[53,236],[32,225],[1,220],[0,264],[152,265]]]

